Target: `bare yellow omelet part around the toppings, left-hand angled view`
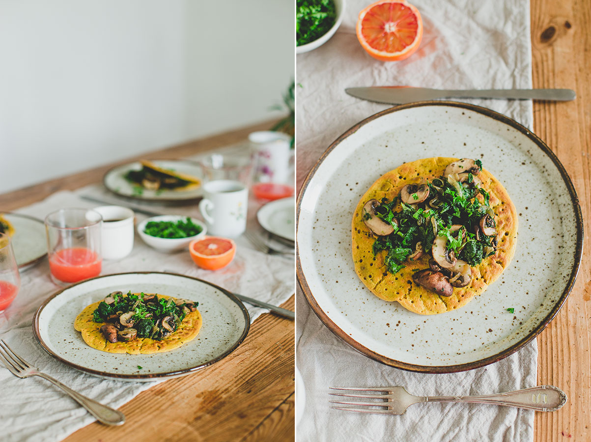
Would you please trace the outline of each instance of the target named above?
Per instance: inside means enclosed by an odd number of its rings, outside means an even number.
[[[134,295],[140,295],[134,293]],[[147,295],[147,294],[146,294]],[[166,295],[158,295],[159,298],[171,298]],[[102,301],[102,300],[101,300]],[[163,340],[157,341],[145,338],[136,338],[129,342],[115,342],[111,343],[105,339],[105,336],[100,332],[104,322],[95,322],[93,320],[93,312],[100,302],[90,304],[76,317],[74,321],[74,329],[82,333],[82,339],[93,349],[102,350],[109,353],[129,353],[130,355],[161,353],[174,350],[186,342],[194,339],[202,325],[202,318],[199,310],[191,311],[184,317],[178,329],[165,337]]]

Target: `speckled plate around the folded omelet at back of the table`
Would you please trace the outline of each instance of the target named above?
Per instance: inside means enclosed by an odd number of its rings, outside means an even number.
[[[150,160],[155,165],[169,170],[176,170],[193,177],[201,178],[202,170],[199,164],[188,160]],[[203,196],[200,187],[191,190],[147,190],[136,186],[125,179],[129,170],[141,170],[139,161],[119,165],[110,169],[103,177],[103,184],[117,196],[131,200],[154,203],[187,203],[193,202]]]

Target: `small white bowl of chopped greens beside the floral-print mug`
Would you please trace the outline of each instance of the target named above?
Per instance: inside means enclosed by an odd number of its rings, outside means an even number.
[[[182,215],[160,215],[138,225],[139,236],[150,247],[161,252],[178,252],[189,248],[193,239],[205,236],[205,224]]]

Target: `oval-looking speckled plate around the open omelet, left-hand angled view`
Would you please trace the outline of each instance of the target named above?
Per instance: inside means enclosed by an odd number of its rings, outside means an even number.
[[[74,319],[83,308],[116,290],[198,301],[202,328],[195,339],[170,352],[129,355],[93,349],[74,330]],[[212,365],[240,345],[249,327],[248,311],[223,288],[184,275],[157,272],[106,275],[70,285],[45,301],[33,318],[35,338],[51,356],[91,375],[124,381],[176,378]]]

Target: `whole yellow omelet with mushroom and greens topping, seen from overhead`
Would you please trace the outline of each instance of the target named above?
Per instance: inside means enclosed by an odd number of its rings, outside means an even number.
[[[363,195],[352,220],[353,262],[376,296],[418,314],[465,306],[511,262],[517,212],[479,160],[402,164]]]

